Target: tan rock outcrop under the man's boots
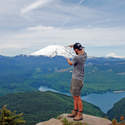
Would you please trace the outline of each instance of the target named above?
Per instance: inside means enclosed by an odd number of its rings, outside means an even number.
[[[106,118],[91,116],[83,114],[83,120],[80,121],[83,125],[111,125],[112,122]],[[72,123],[77,123],[76,121],[73,121],[73,118],[68,118],[67,114],[60,115],[57,119],[50,119],[45,122],[38,123],[36,125],[63,125],[62,120],[67,119],[67,121]]]

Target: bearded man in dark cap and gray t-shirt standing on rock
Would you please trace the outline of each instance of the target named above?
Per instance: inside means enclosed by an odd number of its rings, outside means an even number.
[[[74,117],[75,121],[83,119],[83,104],[80,97],[81,89],[83,87],[83,78],[84,78],[84,64],[87,58],[87,54],[84,51],[84,47],[80,43],[75,43],[69,47],[73,48],[76,56],[72,61],[67,58],[69,65],[73,65],[72,80],[71,80],[71,94],[74,99],[74,110],[68,115],[68,117]]]

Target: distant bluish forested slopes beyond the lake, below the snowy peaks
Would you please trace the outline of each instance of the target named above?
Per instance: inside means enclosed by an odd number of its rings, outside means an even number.
[[[69,92],[72,66],[61,56],[0,56],[0,93],[38,90]],[[125,90],[125,59],[88,58],[82,94]]]

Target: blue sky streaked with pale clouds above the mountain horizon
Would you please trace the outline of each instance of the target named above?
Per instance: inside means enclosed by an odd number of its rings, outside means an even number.
[[[0,55],[81,42],[89,56],[125,56],[125,0],[0,1]]]

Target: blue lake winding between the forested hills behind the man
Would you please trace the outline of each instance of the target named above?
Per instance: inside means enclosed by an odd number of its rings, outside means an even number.
[[[61,93],[65,95],[71,96],[69,93],[62,93],[59,91],[56,91],[54,89],[49,89],[46,87],[40,87],[40,91],[52,91],[56,93]],[[113,107],[113,104],[118,102],[120,99],[125,97],[125,92],[106,92],[103,94],[89,94],[87,96],[82,96],[82,99],[84,101],[90,102],[96,106],[98,106],[103,112],[107,113],[109,109]]]

